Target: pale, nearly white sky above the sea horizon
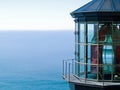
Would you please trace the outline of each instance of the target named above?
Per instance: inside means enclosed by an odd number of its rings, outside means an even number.
[[[91,0],[0,0],[0,30],[73,30],[70,12]]]

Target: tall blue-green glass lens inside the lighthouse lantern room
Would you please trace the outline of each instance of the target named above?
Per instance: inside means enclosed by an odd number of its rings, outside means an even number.
[[[113,63],[114,53],[112,47],[112,38],[110,35],[106,35],[103,45],[102,59],[103,59],[103,72],[104,74],[111,74],[112,63]]]

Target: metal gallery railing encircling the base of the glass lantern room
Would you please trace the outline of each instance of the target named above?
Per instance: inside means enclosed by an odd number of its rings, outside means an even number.
[[[75,61],[75,59],[68,59],[68,60],[63,60],[63,72],[62,72],[62,76],[64,79],[66,79],[68,82],[72,82],[71,81],[71,76],[76,77],[78,80],[84,80],[84,82],[86,83],[86,81],[102,81],[102,84],[104,86],[104,83],[107,82],[108,80],[104,80],[104,75],[103,73],[101,73],[100,71],[97,71],[96,73],[98,74],[96,79],[88,79],[88,78],[81,78],[79,77],[79,75],[76,75],[75,73],[75,64],[82,64],[82,65],[88,65],[88,66],[96,66],[98,68],[103,68],[104,66],[111,66],[111,67],[120,67],[120,64],[116,64],[116,65],[111,65],[111,64],[90,64],[90,63],[82,63],[82,62],[77,62]],[[89,73],[89,72],[87,72]],[[80,73],[82,74],[82,73]],[[113,74],[113,73],[112,73]],[[99,79],[101,78],[101,79]],[[118,77],[117,75],[114,75],[114,80],[111,81],[120,81],[120,77]],[[99,80],[98,80],[99,79]],[[109,80],[110,81],[110,80]]]

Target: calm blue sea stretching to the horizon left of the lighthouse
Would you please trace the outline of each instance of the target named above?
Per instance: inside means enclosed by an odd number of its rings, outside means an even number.
[[[73,31],[0,31],[0,90],[69,90],[62,60],[74,58]]]

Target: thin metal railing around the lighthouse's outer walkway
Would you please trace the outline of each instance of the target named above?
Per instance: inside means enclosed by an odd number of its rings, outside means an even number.
[[[94,66],[96,67],[96,75],[97,77],[95,79],[93,78],[88,78],[88,77],[84,77],[84,78],[81,78],[79,75],[76,75],[75,73],[75,65],[85,65],[85,66]],[[120,68],[120,64],[116,64],[116,65],[111,65],[111,64],[90,64],[90,63],[82,63],[82,62],[76,62],[74,59],[68,59],[68,60],[63,60],[63,64],[62,64],[62,67],[63,67],[63,72],[62,72],[62,76],[64,79],[66,79],[68,82],[71,81],[71,76],[75,76],[77,77],[79,80],[85,80],[85,83],[86,82],[89,82],[89,81],[94,81],[94,82],[100,82],[103,86],[105,85],[106,82],[109,82],[109,81],[117,81],[117,82],[120,82],[120,77],[117,77],[117,73],[112,71],[111,72],[111,76],[110,76],[110,80],[106,80],[104,75],[105,73],[102,71],[100,71],[99,69],[102,69],[105,67],[105,66],[111,66],[112,68]],[[79,71],[78,71],[79,72]],[[120,71],[119,71],[120,72]],[[83,72],[79,72],[79,74],[83,74]],[[94,74],[94,72],[92,71],[85,71],[84,74]],[[119,79],[114,79],[114,78],[119,78]]]

